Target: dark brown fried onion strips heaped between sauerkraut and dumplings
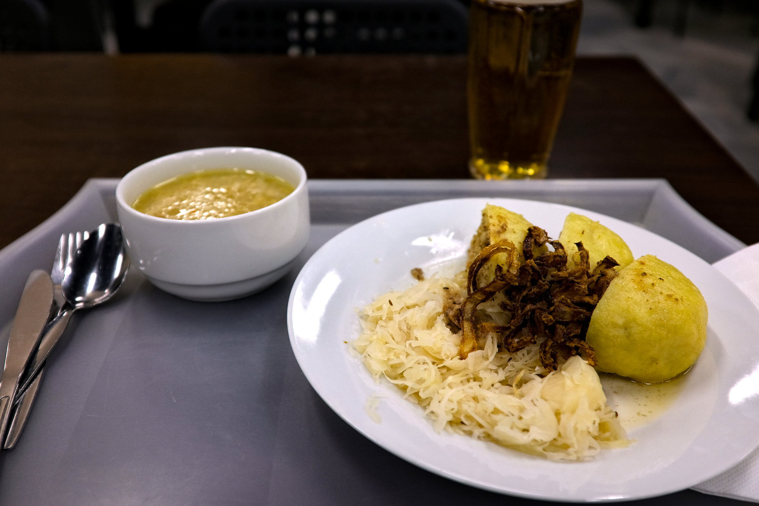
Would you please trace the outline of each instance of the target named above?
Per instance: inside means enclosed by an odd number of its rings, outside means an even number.
[[[535,248],[546,244],[553,251],[535,257]],[[555,371],[560,359],[574,355],[596,365],[594,349],[585,342],[585,334],[598,301],[617,275],[614,267],[619,264],[607,256],[591,270],[588,251],[582,242],[576,245],[578,253],[571,270],[562,243],[552,241],[537,226],[528,229],[521,264],[512,242],[502,240],[483,248],[468,271],[467,299],[463,304],[456,301],[446,308],[449,320],[461,328],[461,358],[477,349],[478,340],[482,342],[492,333],[496,334],[499,347],[510,353],[540,342],[540,362],[546,371]],[[477,274],[499,253],[507,253],[508,262],[496,265],[495,279],[479,288]],[[477,309],[499,293],[502,294],[499,307],[509,316],[508,324],[496,324]]]

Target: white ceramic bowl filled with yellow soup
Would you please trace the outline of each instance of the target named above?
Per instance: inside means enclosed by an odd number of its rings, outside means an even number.
[[[132,264],[184,299],[247,296],[287,274],[308,241],[306,171],[253,147],[151,160],[116,187]]]

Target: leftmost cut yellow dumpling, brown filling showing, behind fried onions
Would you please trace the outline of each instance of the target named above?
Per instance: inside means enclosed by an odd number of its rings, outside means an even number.
[[[525,220],[521,214],[515,213],[508,209],[499,206],[493,206],[487,204],[482,210],[482,221],[480,222],[480,228],[474,233],[472,237],[471,245],[469,246],[469,257],[467,260],[467,266],[471,264],[471,261],[482,251],[487,245],[495,244],[502,239],[508,239],[513,242],[515,247],[519,251],[519,263],[524,262],[524,254],[522,252],[522,243],[524,238],[527,237],[527,229],[532,226],[528,220]],[[534,248],[534,255],[540,255],[547,251],[546,246],[540,248]],[[483,286],[493,280],[495,274],[493,274],[496,265],[500,264],[504,269],[508,267],[509,255],[500,253],[494,255],[493,258],[480,270],[480,275],[477,277],[479,280],[479,286]]]

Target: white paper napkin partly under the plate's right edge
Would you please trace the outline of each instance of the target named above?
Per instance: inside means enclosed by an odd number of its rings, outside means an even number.
[[[759,244],[736,251],[714,264],[759,308]],[[759,450],[731,470],[693,487],[698,492],[759,502]]]

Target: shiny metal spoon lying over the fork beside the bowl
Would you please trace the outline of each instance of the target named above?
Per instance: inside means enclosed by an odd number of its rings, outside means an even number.
[[[129,258],[124,251],[121,227],[115,223],[103,223],[96,230],[89,234],[84,232],[84,235],[78,238],[69,234],[68,250],[68,260],[61,281],[61,293],[66,303],[58,316],[47,325],[30,374],[14,397],[14,403],[20,401],[43,368],[71,315],[80,309],[89,309],[106,302],[116,293],[127,274]]]

